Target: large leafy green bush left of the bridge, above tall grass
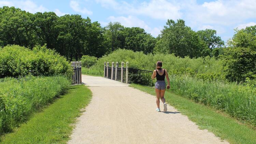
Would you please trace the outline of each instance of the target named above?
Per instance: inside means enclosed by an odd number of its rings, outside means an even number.
[[[32,74],[71,75],[72,69],[66,58],[46,46],[35,46],[31,51],[18,45],[0,49],[0,78],[19,77]]]

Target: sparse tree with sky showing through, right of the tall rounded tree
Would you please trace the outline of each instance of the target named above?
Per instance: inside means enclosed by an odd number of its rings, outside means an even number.
[[[224,41],[216,35],[216,30],[205,29],[197,31],[201,40],[211,51],[211,56],[218,56],[218,49],[224,46]]]

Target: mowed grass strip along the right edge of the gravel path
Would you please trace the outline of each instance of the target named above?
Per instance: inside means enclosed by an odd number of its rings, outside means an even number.
[[[131,84],[130,86],[155,96],[154,88],[137,84]],[[166,91],[165,98],[167,103],[174,106],[191,121],[194,121],[200,129],[207,129],[231,144],[256,143],[256,130],[239,124],[234,118],[169,91]]]

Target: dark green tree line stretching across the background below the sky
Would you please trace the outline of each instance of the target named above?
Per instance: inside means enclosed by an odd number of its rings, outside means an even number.
[[[0,46],[17,44],[28,48],[46,45],[67,59],[83,55],[101,57],[118,48],[134,52],[174,53],[190,58],[218,56],[224,41],[211,29],[193,31],[182,19],[169,20],[154,38],[139,27],[124,27],[110,22],[102,27],[98,21],[81,15],[57,16],[54,12],[31,14],[15,7],[0,8]]]

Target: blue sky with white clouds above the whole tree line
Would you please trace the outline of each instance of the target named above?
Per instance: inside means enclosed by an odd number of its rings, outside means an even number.
[[[256,25],[256,0],[0,0],[4,5],[31,13],[80,14],[103,27],[119,21],[126,27],[144,28],[154,37],[167,19],[184,19],[195,31],[215,29],[225,42],[235,28]]]

